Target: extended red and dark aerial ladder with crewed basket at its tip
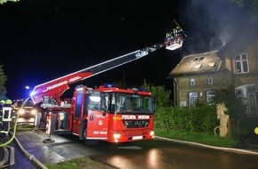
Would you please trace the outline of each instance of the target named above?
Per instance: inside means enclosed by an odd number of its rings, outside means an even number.
[[[41,107],[45,109],[69,108],[69,104],[66,104],[66,101],[61,101],[61,96],[69,90],[70,84],[75,84],[91,76],[96,76],[108,71],[109,69],[125,65],[133,60],[139,60],[149,55],[149,53],[156,52],[163,47],[171,51],[181,48],[186,35],[175,20],[174,22],[177,27],[173,28],[172,32],[166,34],[164,42],[101,62],[92,67],[81,69],[67,76],[61,76],[44,84],[36,85],[32,93],[30,93],[32,101],[34,104],[42,102]]]

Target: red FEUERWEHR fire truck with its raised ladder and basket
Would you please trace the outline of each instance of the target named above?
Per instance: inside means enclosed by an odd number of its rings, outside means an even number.
[[[36,85],[30,97],[35,104],[42,102],[41,107],[45,109],[46,133],[49,136],[46,141],[52,141],[52,134],[75,134],[86,145],[94,145],[100,140],[125,142],[152,139],[155,101],[145,90],[120,89],[111,84],[94,89],[78,85],[72,99],[61,99],[61,96],[69,90],[69,84],[141,59],[162,47],[169,50],[180,48],[182,35],[181,28],[176,28],[166,36],[165,42]]]

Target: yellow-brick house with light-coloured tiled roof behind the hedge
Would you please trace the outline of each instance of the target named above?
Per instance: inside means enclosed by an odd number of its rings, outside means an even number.
[[[234,86],[248,117],[258,117],[258,27],[234,36],[219,50],[182,58],[167,79],[173,81],[174,105],[209,103],[217,90]]]

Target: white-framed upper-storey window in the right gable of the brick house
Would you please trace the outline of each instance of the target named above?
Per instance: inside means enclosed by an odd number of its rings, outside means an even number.
[[[235,56],[235,60],[236,60],[237,74],[249,72],[247,53],[243,53],[243,54],[239,54],[239,55]]]

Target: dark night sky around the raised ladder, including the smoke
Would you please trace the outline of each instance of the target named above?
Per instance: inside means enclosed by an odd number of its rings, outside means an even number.
[[[79,83],[93,87],[125,77],[127,86],[141,86],[146,79],[172,89],[172,81],[165,77],[181,57],[222,45],[249,14],[227,0],[20,0],[2,4],[0,64],[8,78],[7,96],[20,99],[28,92],[26,85],[33,89],[161,43],[176,20],[188,36],[181,50],[160,49]]]

